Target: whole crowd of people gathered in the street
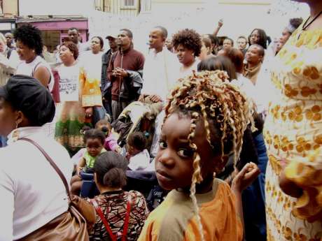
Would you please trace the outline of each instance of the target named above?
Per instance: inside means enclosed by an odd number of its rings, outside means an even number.
[[[130,29],[107,50],[71,28],[56,55],[29,24],[0,34],[0,241],[322,240],[322,3],[304,2],[273,41],[156,26],[146,56]]]

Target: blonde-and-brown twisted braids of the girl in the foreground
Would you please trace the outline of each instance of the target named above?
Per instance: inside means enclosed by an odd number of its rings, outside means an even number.
[[[202,182],[200,155],[193,143],[197,123],[202,121],[207,133],[207,142],[214,154],[221,155],[221,163],[215,168],[215,174],[225,166],[224,156],[234,152],[234,166],[241,152],[243,134],[248,124],[253,124],[251,109],[244,94],[230,85],[228,75],[223,71],[203,71],[179,80],[179,85],[165,106],[165,119],[173,113],[187,115],[191,119],[188,142],[195,151],[194,173],[190,187],[200,235],[204,240],[202,222],[197,205],[196,184]],[[218,143],[218,140],[220,142]]]

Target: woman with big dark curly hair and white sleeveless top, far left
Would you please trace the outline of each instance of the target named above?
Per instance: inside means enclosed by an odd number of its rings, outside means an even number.
[[[22,25],[13,32],[17,52],[22,62],[17,67],[16,74],[36,78],[50,91],[54,87],[54,77],[49,64],[40,55],[43,52],[41,31],[30,24]]]

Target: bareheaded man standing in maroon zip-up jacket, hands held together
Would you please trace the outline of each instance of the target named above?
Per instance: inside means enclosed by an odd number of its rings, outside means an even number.
[[[113,119],[133,101],[137,101],[143,85],[144,55],[134,50],[130,29],[120,29],[116,43],[118,52],[113,54],[108,67],[111,81]]]

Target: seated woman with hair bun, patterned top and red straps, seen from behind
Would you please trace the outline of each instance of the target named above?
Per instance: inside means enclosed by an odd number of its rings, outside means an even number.
[[[94,163],[94,180],[101,193],[90,200],[97,210],[90,240],[137,240],[148,217],[144,196],[123,191],[127,159],[105,152]]]

